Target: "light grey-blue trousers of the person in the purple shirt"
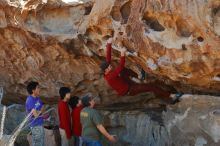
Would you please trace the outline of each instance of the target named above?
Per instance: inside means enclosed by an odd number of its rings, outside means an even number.
[[[44,127],[35,126],[31,127],[32,133],[32,146],[44,146]]]

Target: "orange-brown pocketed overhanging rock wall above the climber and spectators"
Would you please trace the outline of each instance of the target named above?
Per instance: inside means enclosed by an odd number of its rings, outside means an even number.
[[[127,57],[127,66],[137,73],[144,68],[147,80],[220,94],[219,0],[1,0],[0,82],[7,103],[22,102],[30,80],[40,82],[44,97],[58,96],[65,85],[76,95],[117,102],[99,72],[109,36],[115,48],[138,53]],[[113,55],[116,63],[118,51]]]

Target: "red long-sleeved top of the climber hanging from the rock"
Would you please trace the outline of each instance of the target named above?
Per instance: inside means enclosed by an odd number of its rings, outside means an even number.
[[[106,61],[110,63],[111,61],[111,44],[107,44],[106,46],[107,54]],[[119,66],[114,70],[104,75],[105,80],[108,84],[118,93],[118,95],[125,95],[128,92],[128,83],[124,81],[122,77],[120,77],[121,71],[124,69],[125,65],[125,57],[121,57]]]

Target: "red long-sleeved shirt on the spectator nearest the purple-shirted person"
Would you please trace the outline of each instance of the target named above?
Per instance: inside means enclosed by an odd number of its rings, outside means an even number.
[[[67,138],[70,139],[72,136],[71,119],[70,119],[70,110],[69,110],[67,102],[64,102],[63,100],[59,101],[58,114],[59,114],[59,120],[60,120],[59,127],[65,130]]]

